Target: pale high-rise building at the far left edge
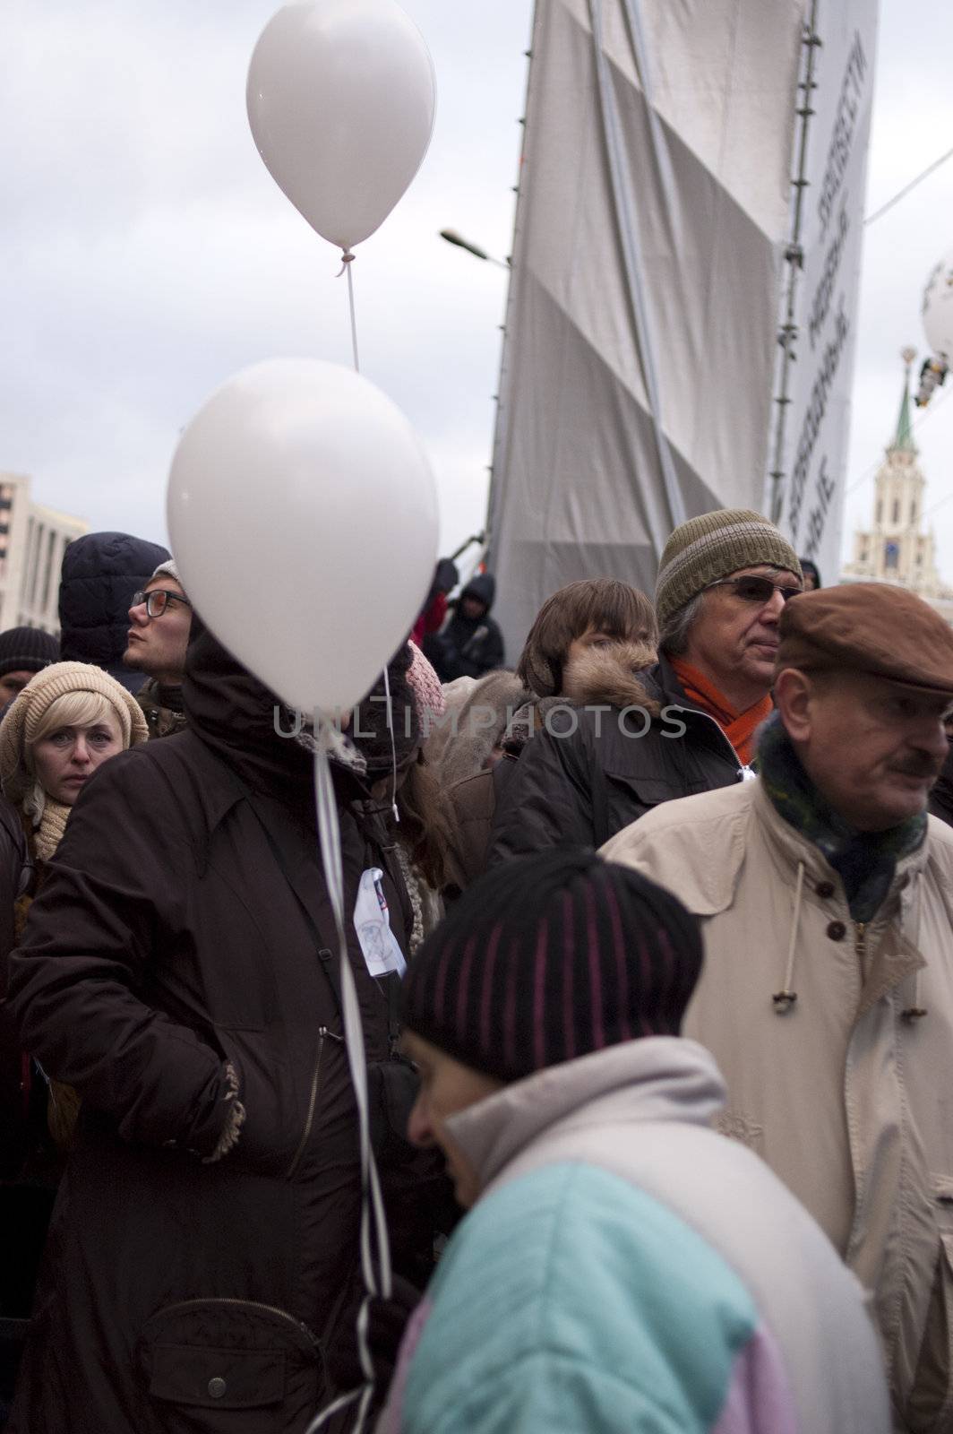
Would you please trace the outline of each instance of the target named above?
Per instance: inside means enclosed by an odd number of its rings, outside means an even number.
[[[0,473],[0,631],[59,632],[63,554],[89,523],[30,499],[24,473]]]

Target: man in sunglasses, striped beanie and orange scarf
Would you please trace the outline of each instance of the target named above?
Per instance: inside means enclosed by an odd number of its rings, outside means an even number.
[[[497,810],[490,865],[600,846],[662,802],[752,776],[778,617],[800,591],[797,554],[760,513],[721,509],[676,528],[659,564],[659,661],[641,674],[643,704],[550,714]]]

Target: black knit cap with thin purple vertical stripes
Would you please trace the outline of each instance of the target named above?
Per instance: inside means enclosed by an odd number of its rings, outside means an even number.
[[[464,1065],[522,1080],[641,1035],[678,1035],[702,962],[675,896],[595,852],[487,872],[410,962],[404,1022]]]

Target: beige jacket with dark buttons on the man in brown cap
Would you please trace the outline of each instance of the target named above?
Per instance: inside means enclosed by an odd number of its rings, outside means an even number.
[[[874,1292],[897,1428],[953,1431],[953,830],[930,817],[866,928],[757,780],[668,802],[602,855],[704,918],[684,1034],[724,1071],[721,1129]]]

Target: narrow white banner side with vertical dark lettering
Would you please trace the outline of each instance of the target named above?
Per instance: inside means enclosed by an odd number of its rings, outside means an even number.
[[[775,384],[765,509],[824,582],[840,572],[850,391],[877,39],[877,0],[817,0],[801,79],[811,76],[807,146],[795,178],[801,225],[788,353]],[[811,6],[807,6],[810,22]],[[813,54],[808,53],[813,49]],[[797,168],[800,163],[800,169]],[[797,195],[795,195],[797,202]],[[782,297],[781,323],[790,323]],[[784,331],[784,330],[782,330]],[[778,402],[781,400],[781,402]],[[787,402],[784,402],[787,400]]]

